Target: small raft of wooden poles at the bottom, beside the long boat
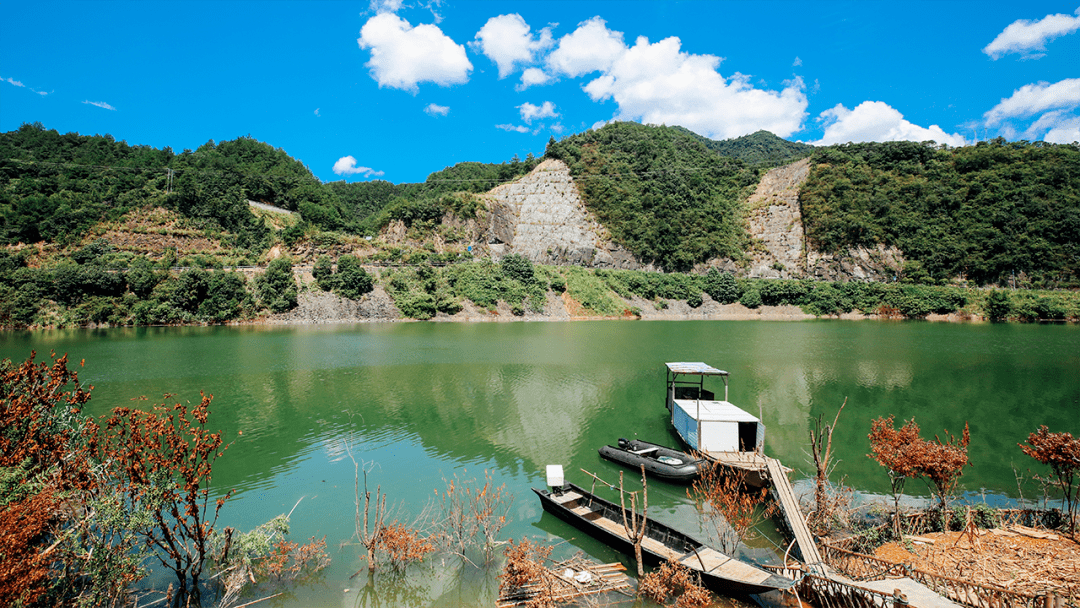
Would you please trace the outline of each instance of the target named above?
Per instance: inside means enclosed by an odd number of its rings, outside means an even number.
[[[545,568],[543,570],[544,580],[503,591],[499,594],[499,599],[495,605],[497,608],[524,606],[541,593],[544,587],[551,591],[554,602],[572,602],[586,595],[608,592],[619,592],[633,596],[631,591],[633,585],[631,585],[625,570],[626,567],[618,562],[615,564],[594,564],[580,554],[575,555]]]

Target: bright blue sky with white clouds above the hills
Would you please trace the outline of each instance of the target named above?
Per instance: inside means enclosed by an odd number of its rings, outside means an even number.
[[[610,120],[715,139],[1080,139],[1063,2],[0,3],[0,131],[179,152],[251,135],[324,181],[422,180]]]

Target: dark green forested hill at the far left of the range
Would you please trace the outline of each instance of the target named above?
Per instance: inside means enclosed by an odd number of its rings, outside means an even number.
[[[60,135],[40,124],[0,134],[0,240],[77,242],[95,224],[161,205],[269,245],[247,200],[313,218],[338,217],[336,201],[300,162],[251,137],[213,140],[177,154],[110,135]]]

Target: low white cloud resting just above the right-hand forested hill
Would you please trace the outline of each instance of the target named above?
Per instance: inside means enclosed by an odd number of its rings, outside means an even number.
[[[967,140],[956,133],[932,124],[919,126],[885,102],[863,102],[853,110],[837,104],[819,116],[826,123],[824,136],[815,146],[846,144],[848,141],[928,141],[949,146],[963,146]]]

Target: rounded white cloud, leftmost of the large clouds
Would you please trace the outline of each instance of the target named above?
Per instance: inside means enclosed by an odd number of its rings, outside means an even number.
[[[443,86],[469,81],[472,64],[465,48],[437,26],[409,23],[393,13],[380,13],[364,24],[356,40],[372,50],[366,65],[379,86],[416,93],[420,82]]]

